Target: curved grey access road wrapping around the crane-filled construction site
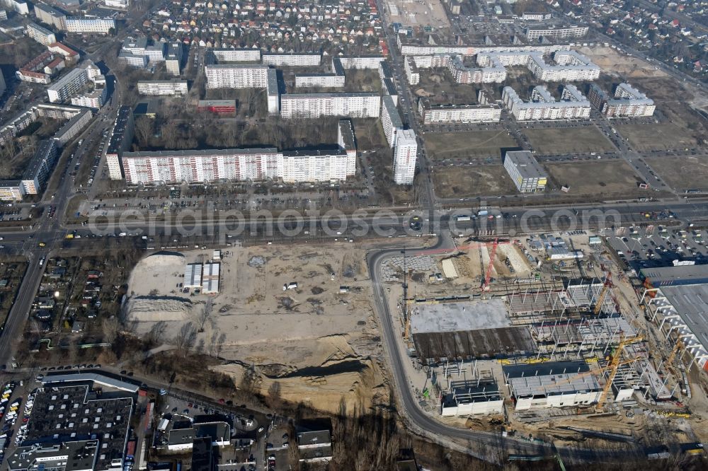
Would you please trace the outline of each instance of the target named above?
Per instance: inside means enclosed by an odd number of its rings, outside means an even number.
[[[453,248],[452,242],[438,238],[433,247],[408,248],[406,255],[415,256],[417,252],[437,248]],[[544,455],[553,457],[556,453],[569,462],[593,461],[615,462],[619,458],[619,450],[588,450],[583,448],[556,448],[550,443],[521,441],[518,438],[503,437],[500,433],[461,429],[442,424],[418,404],[413,396],[406,376],[405,362],[410,361],[405,351],[401,351],[398,336],[399,329],[394,324],[394,316],[389,310],[389,303],[384,291],[384,285],[379,279],[380,267],[387,257],[399,255],[404,247],[372,250],[367,254],[367,265],[372,281],[374,302],[379,315],[382,340],[386,349],[389,370],[394,380],[394,390],[397,397],[397,412],[406,424],[418,434],[427,436],[442,446],[457,448],[470,453],[481,460],[492,463],[503,463],[509,454]],[[639,452],[639,450],[636,450]],[[627,457],[627,450],[624,450]]]

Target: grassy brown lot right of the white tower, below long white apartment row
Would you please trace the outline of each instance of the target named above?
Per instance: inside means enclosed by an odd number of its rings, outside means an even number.
[[[423,136],[430,158],[501,157],[503,147],[516,147],[507,131],[440,132]]]

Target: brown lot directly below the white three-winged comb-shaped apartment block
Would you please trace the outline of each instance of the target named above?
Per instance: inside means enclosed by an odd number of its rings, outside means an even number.
[[[614,151],[615,146],[595,126],[524,129],[535,151],[542,154]]]

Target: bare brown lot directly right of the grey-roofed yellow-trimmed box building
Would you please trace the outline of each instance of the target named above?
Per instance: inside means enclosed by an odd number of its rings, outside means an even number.
[[[639,180],[624,161],[547,163],[545,167],[556,185],[570,186],[569,194],[601,193],[610,199],[612,195],[626,198],[645,192],[639,189]]]

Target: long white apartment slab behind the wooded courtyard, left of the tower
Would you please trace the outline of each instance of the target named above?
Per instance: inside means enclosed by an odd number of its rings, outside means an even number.
[[[287,93],[280,97],[280,116],[286,119],[379,117],[380,110],[377,93]]]

